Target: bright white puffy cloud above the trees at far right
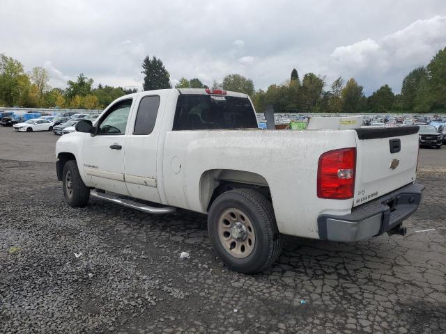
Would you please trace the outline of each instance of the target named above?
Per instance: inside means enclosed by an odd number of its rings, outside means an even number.
[[[373,90],[382,84],[390,84],[399,91],[403,77],[410,70],[429,63],[445,46],[446,16],[437,15],[418,19],[377,40],[367,38],[336,47],[330,55],[329,67],[333,77],[355,77]]]

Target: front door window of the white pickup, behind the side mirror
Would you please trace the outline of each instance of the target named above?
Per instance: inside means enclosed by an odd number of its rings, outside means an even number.
[[[100,121],[98,134],[125,134],[130,106],[132,106],[131,99],[114,104]]]

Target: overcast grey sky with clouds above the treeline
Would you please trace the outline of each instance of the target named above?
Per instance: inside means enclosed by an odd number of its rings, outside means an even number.
[[[226,74],[256,89],[295,67],[327,86],[354,77],[366,95],[403,78],[446,47],[445,0],[21,1],[0,3],[0,54],[42,66],[53,87],[79,73],[141,90],[146,55],[181,77],[212,85]]]

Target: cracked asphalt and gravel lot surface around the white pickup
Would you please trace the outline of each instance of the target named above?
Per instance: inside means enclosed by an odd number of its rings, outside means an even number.
[[[57,138],[0,127],[0,333],[446,332],[446,146],[420,150],[406,237],[287,237],[247,276],[222,265],[201,214],[68,207]]]

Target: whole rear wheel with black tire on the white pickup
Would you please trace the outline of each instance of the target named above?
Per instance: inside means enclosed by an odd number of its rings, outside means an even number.
[[[226,191],[215,199],[208,234],[222,261],[240,273],[263,271],[282,251],[272,205],[252,189]]]

